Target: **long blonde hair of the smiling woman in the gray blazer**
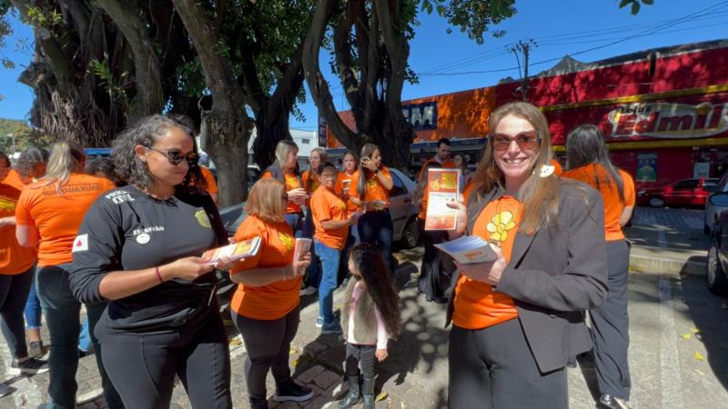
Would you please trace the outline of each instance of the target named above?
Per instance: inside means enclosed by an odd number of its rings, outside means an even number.
[[[549,123],[539,108],[525,102],[511,102],[499,106],[490,114],[490,135],[495,133],[503,118],[508,115],[517,116],[528,121],[541,136],[538,157],[533,167],[533,173],[521,185],[518,196],[523,204],[523,220],[519,230],[526,234],[534,234],[545,220],[547,225],[557,223],[559,213],[559,185],[560,179],[556,175],[541,177],[541,166],[551,162],[551,133]],[[495,187],[505,187],[505,180],[501,168],[495,162],[493,138],[489,136],[485,147],[485,154],[480,159],[478,169],[473,176],[475,189],[480,194],[486,194]]]

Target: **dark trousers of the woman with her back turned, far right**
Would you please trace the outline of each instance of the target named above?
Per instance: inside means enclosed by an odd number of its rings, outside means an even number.
[[[590,310],[599,392],[630,399],[630,319],[627,314],[627,279],[630,248],[624,240],[607,242],[609,294],[602,305]]]

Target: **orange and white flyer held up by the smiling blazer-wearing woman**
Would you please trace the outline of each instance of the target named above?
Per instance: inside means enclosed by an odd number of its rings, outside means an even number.
[[[452,209],[448,204],[459,200],[460,169],[430,169],[427,187],[425,230],[455,230],[458,209]]]

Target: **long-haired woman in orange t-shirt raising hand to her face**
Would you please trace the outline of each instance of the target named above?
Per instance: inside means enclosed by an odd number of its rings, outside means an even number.
[[[381,252],[389,273],[394,274],[392,259],[392,217],[389,214],[389,191],[394,186],[389,168],[382,165],[379,147],[364,144],[361,147],[359,170],[352,176],[349,200],[364,214],[357,228],[361,243],[374,244]]]

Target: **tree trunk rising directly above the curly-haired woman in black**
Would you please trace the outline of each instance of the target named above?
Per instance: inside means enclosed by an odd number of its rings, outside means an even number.
[[[97,0],[126,37],[134,53],[136,96],[129,104],[129,123],[157,114],[164,107],[159,58],[147,35],[147,17],[136,0]]]

